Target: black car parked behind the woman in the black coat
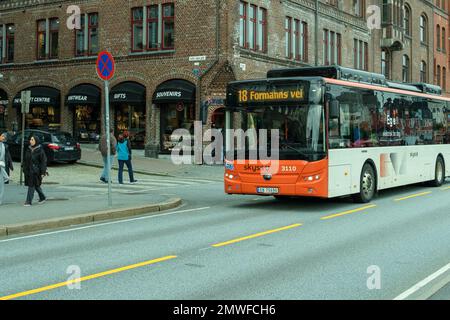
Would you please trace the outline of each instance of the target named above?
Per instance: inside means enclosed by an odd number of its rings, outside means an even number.
[[[44,147],[47,162],[75,163],[81,159],[80,144],[68,132],[25,130],[25,149],[30,145],[30,137],[36,136]],[[15,161],[20,161],[22,132],[11,136],[8,141],[9,152]]]

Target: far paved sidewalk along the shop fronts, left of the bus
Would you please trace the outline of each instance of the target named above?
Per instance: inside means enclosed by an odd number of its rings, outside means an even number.
[[[100,151],[97,150],[97,145],[83,144],[81,146],[81,160],[78,163],[103,168],[103,159]],[[115,159],[113,169],[117,168],[118,163]],[[167,159],[146,158],[143,150],[133,150],[133,170],[141,174],[216,181],[222,181],[224,175],[223,165],[176,165],[172,163],[170,156]]]

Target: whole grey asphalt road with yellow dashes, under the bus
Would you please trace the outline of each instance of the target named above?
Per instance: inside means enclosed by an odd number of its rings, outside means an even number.
[[[0,297],[393,299],[450,262],[450,184],[384,191],[372,206],[227,196],[221,183],[164,193],[184,207],[0,239]]]

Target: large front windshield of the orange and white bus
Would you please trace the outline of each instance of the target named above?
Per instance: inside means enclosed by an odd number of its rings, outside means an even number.
[[[249,106],[240,111],[239,118],[242,129],[256,130],[258,141],[265,129],[268,150],[271,149],[271,130],[278,131],[279,160],[318,161],[326,156],[325,116],[320,104]],[[246,150],[251,149],[250,145],[247,140]],[[258,143],[258,148],[262,147]],[[245,154],[248,158],[249,152]]]

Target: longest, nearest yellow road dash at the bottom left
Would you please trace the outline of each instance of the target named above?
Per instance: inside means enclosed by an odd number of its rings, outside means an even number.
[[[16,294],[5,296],[5,297],[0,297],[0,300],[11,300],[11,299],[25,297],[25,296],[29,296],[29,295],[40,293],[40,292],[44,292],[44,291],[50,291],[50,290],[53,290],[53,289],[65,287],[65,286],[70,285],[70,284],[80,283],[80,282],[83,282],[83,281],[88,281],[88,280],[92,280],[92,279],[96,279],[96,278],[100,278],[100,277],[105,277],[105,276],[108,276],[108,275],[111,275],[111,274],[115,274],[115,273],[131,270],[131,269],[145,267],[145,266],[148,266],[148,265],[151,265],[151,264],[155,264],[155,263],[158,263],[158,262],[163,262],[163,261],[175,259],[176,257],[177,256],[166,256],[166,257],[162,257],[162,258],[158,258],[158,259],[154,259],[154,260],[149,260],[149,261],[145,261],[145,262],[141,262],[141,263],[136,263],[136,264],[132,264],[132,265],[129,265],[129,266],[122,267],[122,268],[117,268],[117,269],[113,269],[113,270],[109,270],[109,271],[105,271],[105,272],[96,273],[96,274],[93,274],[93,275],[90,275],[90,276],[81,277],[79,279],[68,280],[68,281],[60,282],[60,283],[53,284],[53,285],[50,285],[50,286],[46,286],[46,287],[42,287],[42,288],[38,288],[38,289],[34,289],[34,290],[29,290],[29,291],[24,291],[24,292],[19,292],[19,293],[16,293]]]

